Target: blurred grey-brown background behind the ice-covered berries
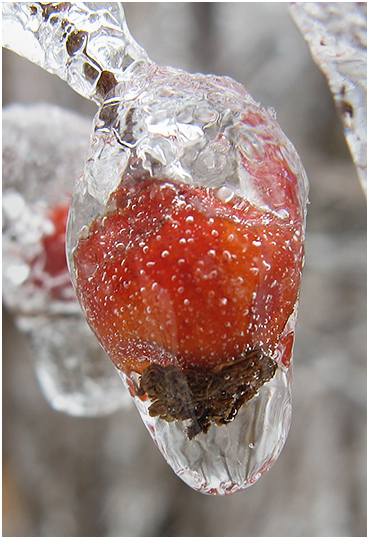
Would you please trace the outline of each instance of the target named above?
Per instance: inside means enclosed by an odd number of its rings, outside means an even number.
[[[152,60],[229,75],[274,107],[306,167],[292,428],[252,488],[198,494],[166,465],[135,409],[99,419],[50,409],[5,310],[3,536],[366,536],[366,201],[327,83],[286,3],[124,7]],[[12,102],[54,103],[91,121],[96,111],[4,51],[3,106]]]

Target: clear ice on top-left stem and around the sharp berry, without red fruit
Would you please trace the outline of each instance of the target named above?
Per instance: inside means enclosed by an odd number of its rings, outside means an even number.
[[[117,3],[12,3],[3,7],[3,18],[5,46],[101,103],[69,217],[67,250],[75,285],[78,242],[106,213],[112,193],[129,174],[204,186],[225,202],[241,197],[282,222],[301,225],[303,232],[308,191],[303,166],[274,111],[263,109],[241,85],[157,66],[130,36]],[[258,120],[247,121],[245,111]],[[286,187],[278,176],[267,185],[261,181],[267,152],[287,163],[296,185]],[[236,492],[252,485],[278,457],[290,426],[287,343],[293,340],[296,314],[297,305],[275,350],[276,375],[228,425],[213,424],[207,434],[189,440],[185,421],[153,418],[147,400],[134,397],[168,464],[192,488]],[[134,376],[119,374],[132,391]]]

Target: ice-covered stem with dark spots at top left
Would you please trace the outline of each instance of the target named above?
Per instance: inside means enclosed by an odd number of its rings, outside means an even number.
[[[101,103],[128,66],[147,59],[120,2],[3,2],[3,47]]]

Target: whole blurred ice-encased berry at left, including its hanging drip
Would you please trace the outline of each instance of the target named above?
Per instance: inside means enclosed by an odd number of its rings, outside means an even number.
[[[45,397],[78,416],[109,414],[128,397],[82,316],[66,264],[66,221],[88,129],[58,107],[3,111],[3,301],[31,344]]]

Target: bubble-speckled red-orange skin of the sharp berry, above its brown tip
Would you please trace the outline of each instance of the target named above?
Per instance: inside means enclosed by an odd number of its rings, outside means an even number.
[[[291,208],[292,210],[292,208]],[[298,297],[298,219],[204,187],[127,177],[74,252],[76,291],[116,366],[217,370],[272,357]]]

